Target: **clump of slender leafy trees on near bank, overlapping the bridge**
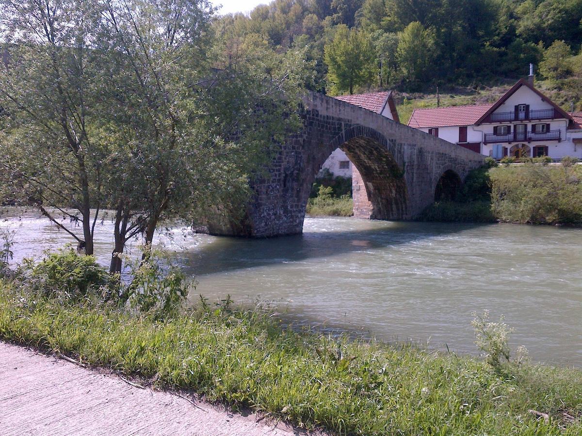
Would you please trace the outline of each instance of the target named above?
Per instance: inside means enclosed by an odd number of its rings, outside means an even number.
[[[164,221],[242,215],[250,178],[299,126],[305,53],[215,40],[205,0],[0,2],[13,43],[3,176],[26,181],[22,198],[88,254],[99,209],[111,209],[112,272],[129,238],[147,246]]]

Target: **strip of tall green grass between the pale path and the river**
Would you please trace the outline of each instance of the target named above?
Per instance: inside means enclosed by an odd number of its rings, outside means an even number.
[[[342,434],[580,434],[582,371],[281,328],[204,301],[164,320],[0,285],[0,338]],[[546,421],[534,413],[548,415]]]

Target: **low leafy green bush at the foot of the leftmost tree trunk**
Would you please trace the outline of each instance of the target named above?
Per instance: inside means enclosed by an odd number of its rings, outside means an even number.
[[[37,265],[27,259],[21,272],[35,290],[47,296],[64,294],[73,300],[112,284],[111,276],[94,256],[77,255],[72,248],[48,253]]]

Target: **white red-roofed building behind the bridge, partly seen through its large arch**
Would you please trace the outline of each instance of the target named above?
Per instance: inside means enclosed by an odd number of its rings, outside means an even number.
[[[398,112],[396,112],[396,105],[392,98],[392,91],[340,95],[334,98],[379,113],[386,118],[400,123]],[[352,177],[352,166],[352,162],[347,158],[346,153],[336,148],[324,162],[324,165],[321,166],[321,170],[327,169],[334,176]]]

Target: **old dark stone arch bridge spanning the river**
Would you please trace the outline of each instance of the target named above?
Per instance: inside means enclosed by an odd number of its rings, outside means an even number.
[[[242,221],[210,225],[211,234],[274,237],[303,231],[315,176],[336,148],[354,164],[354,216],[414,219],[435,196],[448,195],[484,156],[370,110],[311,92],[303,99],[303,129],[289,137],[252,183]]]

